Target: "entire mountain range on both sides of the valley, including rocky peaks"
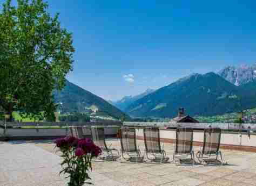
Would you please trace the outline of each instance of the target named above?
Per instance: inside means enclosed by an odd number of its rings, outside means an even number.
[[[67,81],[55,91],[55,102],[63,113],[82,112],[113,118],[172,118],[185,108],[191,116],[215,116],[256,108],[256,63],[229,66],[218,73],[192,74],[158,90],[147,89],[137,96],[105,101]]]

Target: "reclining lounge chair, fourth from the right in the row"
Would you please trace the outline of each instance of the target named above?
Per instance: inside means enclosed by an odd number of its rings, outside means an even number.
[[[120,133],[120,142],[122,148],[120,149],[120,152],[122,154],[122,158],[124,160],[136,160],[136,162],[139,162],[141,158],[144,159],[144,156],[142,156],[142,153],[137,147],[136,129],[122,127],[120,128]],[[124,154],[128,155],[129,158],[125,158]]]

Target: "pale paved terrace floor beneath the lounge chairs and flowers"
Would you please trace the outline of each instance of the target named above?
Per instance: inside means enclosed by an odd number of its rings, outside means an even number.
[[[119,140],[110,140],[120,149]],[[138,140],[143,152],[143,141]],[[66,185],[51,141],[0,142],[0,185]],[[172,160],[173,145],[164,144]],[[198,148],[195,149],[197,152]],[[94,185],[256,185],[256,153],[222,151],[224,166],[93,162]],[[90,184],[88,184],[90,185]]]

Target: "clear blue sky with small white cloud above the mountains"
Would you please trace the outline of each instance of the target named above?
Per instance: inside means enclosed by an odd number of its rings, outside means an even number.
[[[48,3],[73,33],[68,80],[105,99],[256,61],[256,1]]]

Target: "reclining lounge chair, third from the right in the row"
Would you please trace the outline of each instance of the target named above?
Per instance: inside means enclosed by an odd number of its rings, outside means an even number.
[[[143,133],[146,158],[151,161],[160,159],[160,163],[168,161],[169,158],[166,158],[166,152],[160,145],[159,128],[147,127],[143,129]],[[153,158],[150,158],[149,155],[152,155]]]

